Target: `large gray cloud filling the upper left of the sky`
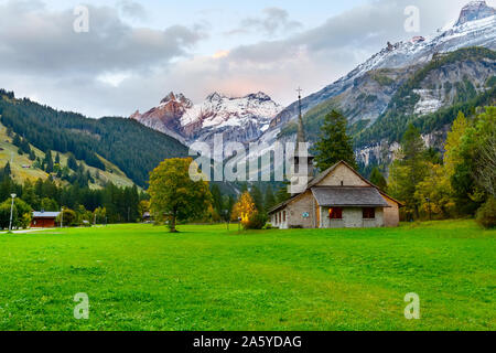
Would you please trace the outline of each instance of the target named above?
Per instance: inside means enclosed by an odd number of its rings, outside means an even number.
[[[51,12],[39,1],[0,6],[0,63],[10,71],[50,75],[149,69],[186,55],[204,35],[183,25],[132,28],[116,9],[88,9],[89,32],[76,33],[72,10]]]

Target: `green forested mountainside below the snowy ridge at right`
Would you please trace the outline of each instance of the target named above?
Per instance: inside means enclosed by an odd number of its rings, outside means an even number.
[[[473,114],[475,107],[494,104],[496,99],[496,52],[483,47],[462,49],[456,52],[432,60],[428,65],[417,71],[392,96],[386,111],[368,129],[356,136],[356,146],[363,147],[377,143],[382,139],[389,142],[399,141],[409,124],[413,124],[422,133],[429,133],[456,118],[459,111]],[[482,84],[475,83],[476,75],[468,76],[463,68],[476,64],[486,66],[493,75],[483,78]],[[459,69],[455,82],[442,81],[450,71]],[[430,78],[430,79],[429,79]],[[442,96],[445,105],[439,110],[421,114],[416,111],[421,100],[419,93],[429,90]]]

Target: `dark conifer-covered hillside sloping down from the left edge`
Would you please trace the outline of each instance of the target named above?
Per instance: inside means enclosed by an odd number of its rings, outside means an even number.
[[[187,156],[187,148],[177,140],[131,119],[89,119],[26,98],[15,99],[3,89],[0,116],[2,125],[37,149],[71,152],[77,160],[106,170],[101,156],[140,186],[145,186],[149,172],[165,158]]]

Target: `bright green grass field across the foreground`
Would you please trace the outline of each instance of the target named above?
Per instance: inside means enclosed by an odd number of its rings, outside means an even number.
[[[0,235],[0,330],[495,330],[495,231],[152,225]],[[73,317],[89,296],[89,320]],[[421,319],[406,320],[405,295]]]

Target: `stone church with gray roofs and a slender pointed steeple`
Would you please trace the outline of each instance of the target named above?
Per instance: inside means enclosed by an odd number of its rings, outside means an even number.
[[[304,142],[300,110],[296,146]],[[301,163],[306,163],[306,168],[302,168]],[[306,188],[269,211],[272,226],[288,229],[399,225],[399,208],[402,204],[362,176],[348,163],[341,161],[314,176],[313,157],[299,158],[299,151],[295,151],[292,164],[291,183],[298,184],[300,178],[305,178]]]

